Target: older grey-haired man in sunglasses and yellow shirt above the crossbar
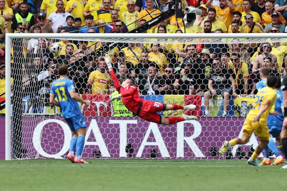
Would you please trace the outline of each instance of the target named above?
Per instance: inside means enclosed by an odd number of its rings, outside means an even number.
[[[128,30],[131,31],[138,27],[138,22],[136,21],[139,19],[138,16],[140,13],[135,10],[135,2],[133,0],[128,0],[126,7],[127,11],[120,15],[120,20],[123,21],[127,25]]]

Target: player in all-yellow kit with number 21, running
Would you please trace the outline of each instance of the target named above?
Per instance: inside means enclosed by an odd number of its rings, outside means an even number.
[[[256,100],[253,106],[245,119],[243,125],[243,135],[241,138],[235,138],[230,141],[224,141],[223,146],[219,150],[221,156],[224,155],[226,149],[230,146],[236,144],[243,145],[246,144],[252,133],[255,131],[255,135],[259,137],[261,142],[256,147],[255,151],[251,155],[251,158],[248,159],[248,164],[254,166],[261,166],[257,163],[256,158],[262,152],[262,150],[267,146],[269,142],[269,129],[267,126],[267,117],[268,114],[276,115],[277,111],[270,111],[271,107],[275,103],[277,94],[274,91],[274,87],[277,85],[277,79],[275,76],[269,76],[267,78],[267,87],[262,88],[258,91],[256,95]]]

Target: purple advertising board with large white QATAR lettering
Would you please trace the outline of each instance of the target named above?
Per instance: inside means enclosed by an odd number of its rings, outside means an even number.
[[[126,158],[126,145],[131,140],[134,158],[148,158],[155,148],[158,158],[212,159],[211,147],[217,151],[222,142],[242,135],[244,118],[201,118],[164,126],[140,118],[86,118],[87,134],[83,158]],[[0,158],[5,158],[5,118],[0,117]],[[71,131],[62,117],[23,117],[22,147],[26,158],[66,158]],[[250,142],[239,146],[247,152],[258,145],[252,135]],[[232,147],[233,156],[238,146]],[[216,157],[224,159],[225,157]],[[235,157],[234,157],[235,159]]]

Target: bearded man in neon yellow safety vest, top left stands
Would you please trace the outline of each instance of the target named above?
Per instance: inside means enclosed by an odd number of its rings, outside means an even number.
[[[23,22],[23,19],[25,19],[25,22]],[[35,16],[28,12],[28,3],[26,1],[20,4],[19,13],[16,13],[13,16],[11,32],[16,32],[16,28],[19,23],[22,23],[24,26],[27,25],[28,30],[30,30],[32,25],[35,25]]]

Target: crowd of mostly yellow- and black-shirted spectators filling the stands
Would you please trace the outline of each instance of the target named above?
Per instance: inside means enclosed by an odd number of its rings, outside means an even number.
[[[5,51],[5,33],[126,33],[167,11],[169,1],[44,0],[41,11],[33,15],[26,1],[0,0],[0,51]],[[202,10],[192,27],[173,15],[145,32],[287,32],[287,5],[283,0],[182,0],[182,4]],[[50,51],[54,42],[62,47],[58,54]],[[48,93],[49,85],[59,77],[56,67],[61,63],[68,65],[68,77],[74,80],[78,93],[112,93],[115,87],[104,60],[106,53],[96,56],[105,45],[106,42],[66,39],[24,40],[26,94]],[[268,68],[271,75],[285,75],[286,53],[285,43],[242,44],[238,39],[230,44],[201,44],[200,39],[194,44],[126,43],[107,52],[117,78],[135,78],[140,95],[201,94],[207,111],[211,96],[222,95],[227,104],[231,96],[256,94],[262,68]],[[13,59],[13,50],[11,54]],[[4,62],[4,57],[1,60]]]

